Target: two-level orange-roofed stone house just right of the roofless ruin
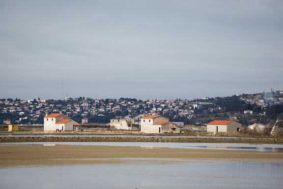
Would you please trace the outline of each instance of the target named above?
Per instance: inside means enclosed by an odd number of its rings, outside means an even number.
[[[169,121],[169,118],[160,115],[152,115],[141,118],[141,132],[165,133],[180,132],[180,129]]]

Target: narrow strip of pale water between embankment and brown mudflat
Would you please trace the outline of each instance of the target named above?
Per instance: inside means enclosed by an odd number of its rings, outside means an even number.
[[[165,142],[24,142],[0,143],[0,146],[20,145],[86,145],[86,146],[130,146],[144,148],[179,148],[179,149],[217,149],[256,152],[283,152],[282,144],[246,144],[246,143],[165,143]]]

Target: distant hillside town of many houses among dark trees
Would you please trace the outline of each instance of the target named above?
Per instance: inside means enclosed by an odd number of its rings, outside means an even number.
[[[234,120],[243,126],[283,119],[283,91],[201,99],[135,98],[0,99],[0,125],[42,125],[46,114],[63,113],[81,124],[109,124],[110,119],[163,115],[172,122],[206,126],[213,120]]]

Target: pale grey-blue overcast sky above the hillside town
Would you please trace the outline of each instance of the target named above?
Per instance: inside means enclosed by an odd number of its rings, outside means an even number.
[[[0,0],[0,98],[283,90],[283,0]]]

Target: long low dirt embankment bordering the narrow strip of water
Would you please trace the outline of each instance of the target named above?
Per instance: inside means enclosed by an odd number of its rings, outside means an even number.
[[[188,142],[283,144],[282,138],[161,138],[161,137],[0,137],[6,142]]]

